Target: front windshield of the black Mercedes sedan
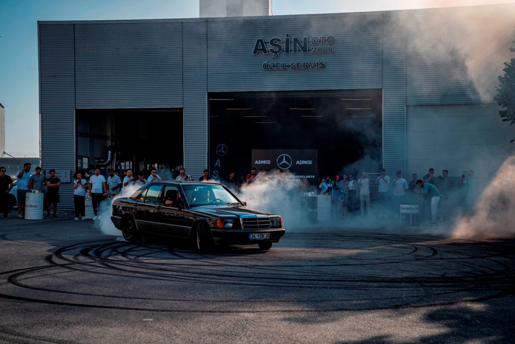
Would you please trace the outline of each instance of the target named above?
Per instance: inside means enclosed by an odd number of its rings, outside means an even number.
[[[183,185],[182,190],[190,205],[241,204],[221,185]]]

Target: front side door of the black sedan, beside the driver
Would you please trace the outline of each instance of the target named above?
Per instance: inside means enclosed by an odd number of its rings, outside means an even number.
[[[161,194],[162,196],[155,212],[155,221],[159,223],[159,233],[187,237],[189,231],[184,226],[183,207],[179,208],[181,198],[177,186],[166,185]]]

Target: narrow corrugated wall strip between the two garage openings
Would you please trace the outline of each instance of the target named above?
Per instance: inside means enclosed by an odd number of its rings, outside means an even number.
[[[208,167],[207,25],[185,22],[183,36],[184,168],[200,176]]]

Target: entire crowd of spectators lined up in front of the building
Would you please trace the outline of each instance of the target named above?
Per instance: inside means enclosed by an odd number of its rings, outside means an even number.
[[[46,218],[50,218],[51,210],[57,218],[57,206],[60,201],[59,187],[61,180],[56,176],[55,170],[49,170],[49,176],[42,174],[41,167],[36,168],[35,174],[30,174],[30,163],[25,163],[23,169],[16,174],[16,187],[18,199],[18,218],[25,216],[25,194],[27,192],[44,193],[46,201]],[[98,216],[100,203],[106,198],[113,198],[122,193],[124,189],[135,190],[147,183],[163,180],[157,169],[150,167],[148,176],[139,171],[133,173],[132,169],[123,171],[118,176],[117,171],[109,169],[107,179],[95,168],[94,174],[89,170],[78,171],[73,176],[73,201],[75,205],[75,220],[85,217],[85,199],[91,196],[94,219]],[[370,175],[374,175],[372,178]],[[252,168],[244,177],[235,176],[230,172],[227,178],[210,177],[209,170],[205,169],[199,182],[216,181],[226,185],[232,191],[240,191],[242,186],[258,181],[260,174]],[[507,209],[511,201],[511,179],[507,171],[496,176],[499,184],[499,204],[501,209]],[[177,176],[171,177],[179,182],[191,182],[195,179],[180,168]],[[6,175],[6,169],[0,167],[0,205],[4,219],[8,218],[13,188],[13,180]],[[131,188],[132,187],[132,188]],[[444,169],[441,175],[435,176],[433,168],[428,170],[421,179],[416,173],[411,174],[408,182],[402,176],[402,171],[396,171],[396,176],[390,179],[386,170],[379,173],[363,172],[359,177],[355,174],[335,175],[323,177],[318,185],[319,193],[331,196],[332,214],[336,218],[346,218],[349,214],[359,214],[363,217],[376,216],[377,219],[398,218],[401,216],[401,204],[418,205],[422,217],[428,224],[436,224],[441,220],[450,220],[457,214],[469,214],[479,194],[474,178],[474,171],[464,171],[461,177],[451,177],[449,171]],[[372,200],[372,204],[371,204]],[[371,212],[373,210],[373,212]]]

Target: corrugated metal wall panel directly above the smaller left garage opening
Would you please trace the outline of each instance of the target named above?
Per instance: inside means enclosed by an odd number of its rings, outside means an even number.
[[[75,24],[77,108],[182,107],[181,26]]]

